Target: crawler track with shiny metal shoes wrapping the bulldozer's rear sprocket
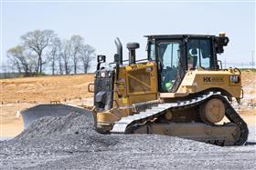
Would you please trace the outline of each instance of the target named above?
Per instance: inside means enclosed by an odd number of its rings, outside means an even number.
[[[165,111],[167,110],[175,111],[175,110],[191,108],[196,105],[201,105],[212,98],[218,98],[225,104],[226,117],[229,119],[230,123],[234,123],[238,125],[240,128],[240,137],[237,141],[234,142],[234,145],[243,145],[247,141],[247,137],[249,134],[247,124],[240,118],[240,115],[238,115],[238,113],[234,110],[234,108],[229,104],[229,101],[227,100],[227,98],[221,95],[220,92],[217,92],[217,93],[209,92],[208,94],[199,95],[195,98],[185,100],[185,101],[178,101],[176,103],[159,104],[139,114],[123,117],[121,120],[119,120],[113,125],[112,133],[130,134],[131,127],[133,125],[142,124],[142,123],[145,124],[147,122],[150,122],[155,118],[159,117],[160,115],[164,115]],[[205,141],[205,142],[212,143],[212,144],[219,143],[219,141]]]

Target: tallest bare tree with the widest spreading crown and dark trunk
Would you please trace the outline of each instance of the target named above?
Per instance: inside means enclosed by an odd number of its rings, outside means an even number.
[[[42,73],[42,65],[44,65],[42,59],[43,51],[48,47],[54,37],[56,37],[56,34],[52,30],[35,30],[21,36],[23,44],[37,54],[37,73]]]

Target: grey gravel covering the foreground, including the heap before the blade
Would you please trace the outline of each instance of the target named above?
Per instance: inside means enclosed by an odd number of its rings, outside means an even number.
[[[0,141],[1,169],[254,169],[255,145],[220,147],[165,135],[100,135],[91,115],[44,117]]]

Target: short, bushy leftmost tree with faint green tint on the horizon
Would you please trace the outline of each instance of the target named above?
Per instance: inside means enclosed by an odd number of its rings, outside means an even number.
[[[24,72],[25,76],[31,75],[35,69],[35,56],[26,51],[25,46],[17,45],[7,51],[7,57],[19,73]]]

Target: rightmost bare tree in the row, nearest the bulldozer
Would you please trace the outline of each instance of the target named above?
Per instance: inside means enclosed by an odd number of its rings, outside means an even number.
[[[91,66],[91,61],[95,58],[95,49],[91,45],[82,45],[80,52],[83,72],[87,74]]]

